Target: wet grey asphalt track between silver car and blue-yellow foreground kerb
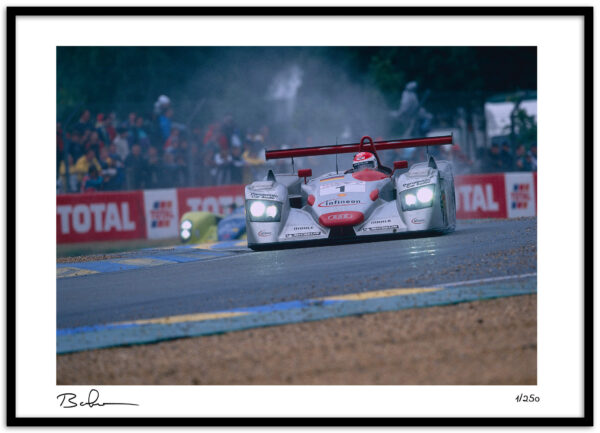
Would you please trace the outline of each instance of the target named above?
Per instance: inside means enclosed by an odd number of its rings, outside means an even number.
[[[223,311],[536,271],[537,220],[436,237],[266,252],[57,280],[57,328]]]

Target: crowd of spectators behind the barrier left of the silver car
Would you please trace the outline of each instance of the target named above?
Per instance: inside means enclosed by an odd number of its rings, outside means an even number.
[[[204,127],[174,121],[162,95],[148,118],[84,109],[73,125],[57,123],[59,192],[115,191],[250,183],[264,161],[269,129],[242,130],[231,115]],[[65,164],[65,160],[68,164]]]

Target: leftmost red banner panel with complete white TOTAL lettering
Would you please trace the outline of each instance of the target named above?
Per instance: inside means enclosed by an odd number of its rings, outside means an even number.
[[[145,237],[142,191],[56,197],[56,241],[59,244]]]

